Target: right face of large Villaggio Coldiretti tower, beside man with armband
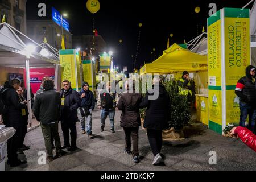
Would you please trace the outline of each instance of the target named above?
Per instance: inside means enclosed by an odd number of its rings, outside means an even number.
[[[225,8],[226,124],[240,121],[237,81],[250,65],[250,11]]]

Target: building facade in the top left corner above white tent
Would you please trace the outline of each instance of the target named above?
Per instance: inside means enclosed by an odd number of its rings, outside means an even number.
[[[23,34],[27,33],[26,0],[0,0],[1,21],[5,15],[6,23]]]

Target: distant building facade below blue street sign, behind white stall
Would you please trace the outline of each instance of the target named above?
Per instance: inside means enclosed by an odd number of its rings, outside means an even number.
[[[27,35],[38,43],[46,38],[52,47],[61,49],[61,27],[53,20],[27,20]],[[71,49],[72,34],[63,28],[63,36],[65,49]]]

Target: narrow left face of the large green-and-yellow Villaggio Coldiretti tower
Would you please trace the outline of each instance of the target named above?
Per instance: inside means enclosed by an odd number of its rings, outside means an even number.
[[[220,11],[210,16],[208,23],[208,106],[209,128],[221,131],[221,16]]]

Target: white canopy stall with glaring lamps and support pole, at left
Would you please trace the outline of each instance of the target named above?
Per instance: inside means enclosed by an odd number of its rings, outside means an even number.
[[[45,44],[36,43],[10,24],[1,23],[0,27],[0,85],[8,80],[6,76],[8,70],[22,72],[26,69],[24,77],[26,77],[27,100],[30,100],[30,68],[54,67],[55,71],[58,71],[59,55],[57,51]],[[57,84],[58,74],[55,76],[55,85]],[[28,110],[32,113],[30,102],[28,102]],[[30,126],[31,119],[32,114],[29,117]]]

